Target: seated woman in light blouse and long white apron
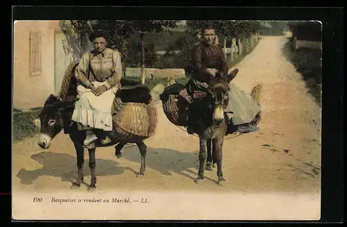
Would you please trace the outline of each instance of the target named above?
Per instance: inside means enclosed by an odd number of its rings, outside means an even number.
[[[89,36],[94,49],[83,54],[75,76],[78,81],[76,101],[72,120],[79,130],[86,131],[83,142],[88,146],[99,135],[101,144],[108,144],[108,131],[112,131],[111,108],[122,76],[121,54],[106,47],[104,31],[94,31]]]

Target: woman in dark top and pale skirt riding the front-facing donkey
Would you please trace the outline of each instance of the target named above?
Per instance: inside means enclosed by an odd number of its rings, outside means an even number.
[[[192,78],[187,83],[187,89],[181,94],[187,92],[192,96],[192,103],[188,119],[187,132],[194,133],[194,128],[198,124],[198,113],[194,112],[194,97],[198,98],[198,92],[206,92],[208,90],[210,78],[219,74],[226,76],[228,74],[228,66],[223,49],[218,44],[218,37],[212,27],[203,29],[203,41],[196,44],[192,53]],[[233,83],[229,83],[229,102],[225,110],[229,123],[235,126],[233,131],[239,133],[250,133],[259,130],[256,126],[250,124],[258,112],[260,106],[253,101],[251,95],[240,90]]]

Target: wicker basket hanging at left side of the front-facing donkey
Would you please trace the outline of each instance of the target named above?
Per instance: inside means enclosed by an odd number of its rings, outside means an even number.
[[[187,126],[189,110],[187,101],[174,94],[169,94],[167,99],[162,100],[162,108],[167,119],[176,126]]]

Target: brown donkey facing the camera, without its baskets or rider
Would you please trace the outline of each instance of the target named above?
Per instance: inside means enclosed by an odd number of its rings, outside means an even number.
[[[228,117],[224,112],[228,105],[230,91],[229,83],[235,78],[235,69],[228,76],[216,76],[210,81],[208,92],[201,99],[196,99],[192,106],[198,112],[198,125],[195,133],[199,137],[200,151],[198,154],[199,169],[196,183],[202,183],[204,167],[207,158],[207,169],[212,168],[212,160],[217,164],[218,184],[224,185],[225,178],[222,171],[223,140],[228,128]],[[211,154],[212,146],[212,154]]]

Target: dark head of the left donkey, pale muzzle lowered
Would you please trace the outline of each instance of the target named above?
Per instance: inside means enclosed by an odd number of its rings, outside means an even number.
[[[48,149],[51,140],[71,122],[73,108],[73,102],[62,102],[53,94],[49,96],[39,118],[33,121],[34,126],[40,128],[37,144],[42,149]]]

